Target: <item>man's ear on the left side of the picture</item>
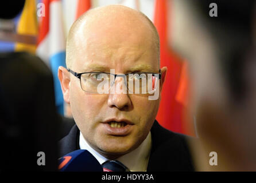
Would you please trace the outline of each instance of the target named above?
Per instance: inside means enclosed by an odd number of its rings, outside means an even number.
[[[64,101],[69,104],[69,82],[70,82],[70,77],[69,77],[69,72],[65,67],[60,66],[58,69],[58,77],[60,80],[60,85],[61,85],[61,90],[63,93],[63,98]]]

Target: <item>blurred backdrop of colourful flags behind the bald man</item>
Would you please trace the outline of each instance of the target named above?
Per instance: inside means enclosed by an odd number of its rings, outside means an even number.
[[[40,57],[52,70],[57,111],[72,118],[57,78],[58,67],[65,66],[65,40],[72,23],[87,10],[98,6],[122,4],[142,11],[157,27],[161,67],[168,67],[157,120],[169,130],[195,136],[193,116],[184,115],[190,83],[188,64],[168,46],[167,29],[172,6],[167,3],[165,0],[26,0],[23,11],[14,18],[13,32],[0,35],[0,51],[29,51]]]

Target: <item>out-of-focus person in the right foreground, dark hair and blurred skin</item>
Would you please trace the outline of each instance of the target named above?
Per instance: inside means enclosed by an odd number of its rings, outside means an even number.
[[[190,115],[202,142],[191,146],[196,169],[255,171],[255,1],[169,3],[169,45],[191,66]],[[217,17],[210,16],[211,3]],[[216,165],[210,152],[218,154]]]

